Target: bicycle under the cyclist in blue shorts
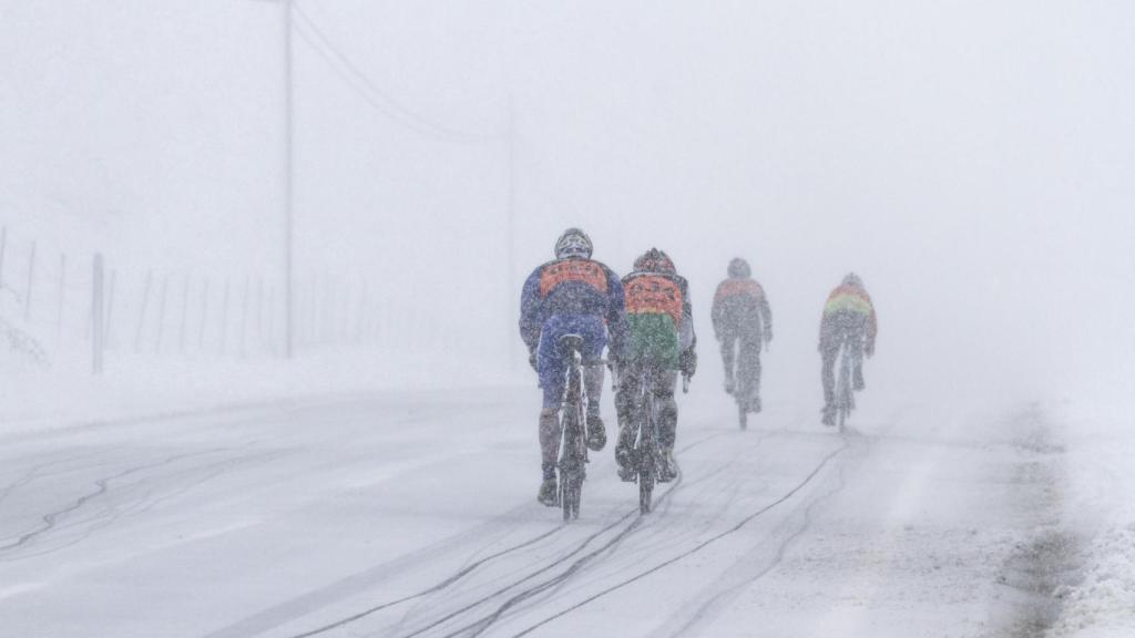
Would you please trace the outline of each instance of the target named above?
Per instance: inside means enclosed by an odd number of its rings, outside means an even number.
[[[579,519],[579,505],[583,492],[583,480],[587,479],[587,431],[583,423],[583,337],[564,335],[560,337],[560,351],[569,352],[568,384],[564,388],[560,415],[560,505],[563,507],[564,522]],[[587,366],[602,366],[603,361],[588,362]]]

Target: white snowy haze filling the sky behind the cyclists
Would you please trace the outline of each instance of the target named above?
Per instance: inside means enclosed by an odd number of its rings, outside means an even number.
[[[530,383],[520,283],[580,226],[616,271],[671,253],[714,386],[708,304],[743,255],[773,303],[773,397],[818,408],[818,313],[848,270],[880,314],[874,402],[1124,391],[1128,3],[297,7],[400,104],[368,103],[297,16],[297,280],[377,291],[398,342],[373,353],[385,366]],[[283,25],[260,0],[0,5],[9,230],[278,282]]]

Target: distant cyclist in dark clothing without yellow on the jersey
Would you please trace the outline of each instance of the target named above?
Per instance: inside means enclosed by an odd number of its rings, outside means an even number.
[[[717,286],[712,316],[725,364],[725,392],[747,412],[760,412],[760,350],[773,339],[773,313],[743,259],[729,262],[729,278]]]

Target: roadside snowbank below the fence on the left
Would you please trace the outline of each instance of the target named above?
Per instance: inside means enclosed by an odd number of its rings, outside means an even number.
[[[117,355],[96,377],[82,372],[81,364],[30,364],[26,358],[8,356],[0,363],[0,436],[337,394],[526,383],[521,373],[502,376],[471,366],[429,368],[392,366],[375,351],[300,353],[293,361]]]

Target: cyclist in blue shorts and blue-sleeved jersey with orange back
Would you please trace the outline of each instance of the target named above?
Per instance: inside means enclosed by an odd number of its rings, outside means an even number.
[[[560,351],[564,335],[583,337],[583,386],[587,391],[587,446],[603,450],[607,442],[599,397],[603,366],[597,361],[607,333],[617,338],[623,322],[623,285],[609,268],[591,259],[591,240],[579,228],[569,228],[556,241],[556,259],[529,276],[520,301],[520,336],[528,346],[528,361],[544,389],[539,437],[543,480],[537,500],[556,505],[556,457],[560,454],[560,408],[565,391],[568,355]]]

